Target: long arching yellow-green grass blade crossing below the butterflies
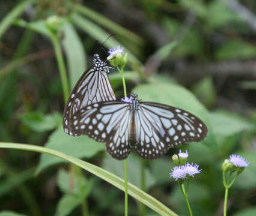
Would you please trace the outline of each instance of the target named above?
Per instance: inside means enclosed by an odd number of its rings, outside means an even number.
[[[74,138],[73,138],[74,139]],[[97,167],[93,164],[90,164],[86,161],[79,160],[78,158],[74,158],[62,152],[43,148],[41,146],[34,146],[34,145],[26,145],[26,144],[17,144],[17,143],[4,143],[0,142],[0,148],[8,148],[8,149],[20,149],[25,151],[34,151],[34,152],[41,152],[46,153],[49,155],[53,155],[64,160],[67,160],[83,169],[87,170],[88,172],[93,173],[93,175],[99,176],[103,180],[109,182],[110,184],[114,185],[115,187],[119,188],[120,190],[124,191],[124,179],[115,176],[114,174]],[[134,197],[135,199],[139,200],[139,202],[144,203],[149,208],[156,211],[159,215],[177,215],[171,211],[171,209],[167,208],[163,203],[160,203],[154,197],[150,196],[149,194],[145,193],[144,191],[140,190],[139,188],[135,187],[135,185],[128,183],[128,194]]]

